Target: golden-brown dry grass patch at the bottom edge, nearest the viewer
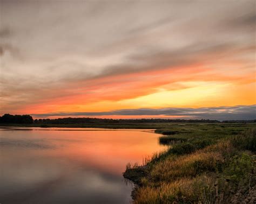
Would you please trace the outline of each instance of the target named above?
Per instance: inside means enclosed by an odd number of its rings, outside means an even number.
[[[206,176],[162,182],[159,187],[139,188],[134,203],[205,203],[206,195],[214,198],[214,191],[209,194],[213,185],[213,178]]]

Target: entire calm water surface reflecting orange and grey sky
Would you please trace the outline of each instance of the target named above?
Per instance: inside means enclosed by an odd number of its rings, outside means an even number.
[[[129,203],[122,172],[164,150],[150,130],[0,128],[0,203]]]

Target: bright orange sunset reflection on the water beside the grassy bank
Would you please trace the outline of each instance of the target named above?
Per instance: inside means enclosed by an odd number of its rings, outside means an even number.
[[[148,131],[52,131],[57,149],[49,151],[79,164],[112,173],[125,171],[127,163],[142,163],[143,158],[165,149],[159,145],[159,135]]]

